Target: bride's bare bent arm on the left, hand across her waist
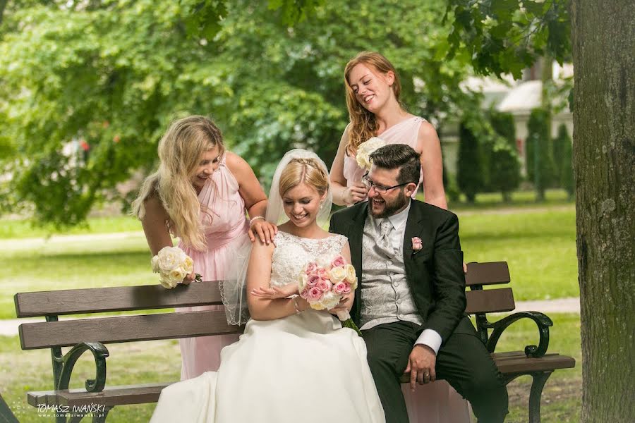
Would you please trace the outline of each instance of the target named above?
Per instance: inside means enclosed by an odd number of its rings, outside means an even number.
[[[274,245],[265,245],[257,238],[251,250],[247,268],[247,306],[249,314],[255,320],[281,319],[308,308],[306,300],[300,297],[267,298],[253,294],[270,289],[274,248]]]

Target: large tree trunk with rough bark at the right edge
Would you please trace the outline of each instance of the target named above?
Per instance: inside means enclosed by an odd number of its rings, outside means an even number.
[[[583,422],[632,422],[635,8],[572,0]]]

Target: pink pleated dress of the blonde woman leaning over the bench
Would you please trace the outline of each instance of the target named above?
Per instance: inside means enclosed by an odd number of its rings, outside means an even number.
[[[219,281],[231,265],[232,252],[248,242],[249,222],[245,201],[238,192],[238,182],[225,164],[226,154],[207,179],[198,195],[200,223],[205,232],[207,250],[198,251],[179,243],[181,250],[192,257],[194,271],[202,276],[202,283]],[[182,307],[177,312],[222,309],[222,306]],[[226,345],[238,341],[238,335],[200,336],[181,338],[181,380],[192,379],[205,372],[216,372],[220,352]]]

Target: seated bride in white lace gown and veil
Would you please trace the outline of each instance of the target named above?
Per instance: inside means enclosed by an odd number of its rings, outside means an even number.
[[[351,260],[346,238],[320,228],[331,209],[328,181],[314,153],[284,155],[267,209],[267,221],[282,223],[274,244],[257,241],[243,276],[222,285],[228,320],[244,323],[245,302],[251,319],[222,350],[218,372],[162,391],[151,422],[385,422],[365,343],[334,317],[351,308],[353,293],[328,311],[296,295],[306,262],[324,254]]]

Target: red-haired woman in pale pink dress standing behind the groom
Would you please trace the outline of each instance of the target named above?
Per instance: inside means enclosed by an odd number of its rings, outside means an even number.
[[[401,106],[401,84],[392,63],[379,53],[363,51],[346,64],[344,81],[351,122],[331,166],[333,202],[350,206],[367,200],[368,188],[362,182],[366,171],[358,166],[356,152],[362,142],[379,137],[387,144],[409,145],[421,154],[419,182],[425,202],[447,209],[439,137],[433,125]],[[402,392],[410,423],[470,422],[468,402],[446,381],[418,385],[415,391],[404,384]]]

